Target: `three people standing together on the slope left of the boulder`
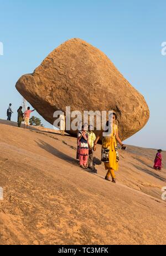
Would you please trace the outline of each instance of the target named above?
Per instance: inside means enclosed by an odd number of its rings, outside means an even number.
[[[24,122],[24,128],[27,127],[28,129],[28,125],[29,125],[29,119],[30,119],[30,113],[34,111],[33,110],[30,110],[30,107],[28,107],[27,110],[25,110],[25,112],[23,113],[23,107],[20,106],[19,109],[17,110],[17,114],[18,114],[18,117],[17,117],[17,124],[18,124],[18,127],[21,126],[22,122]],[[11,121],[11,116],[13,114],[13,111],[12,111],[12,104],[10,103],[9,104],[9,107],[7,109],[7,120],[8,121]]]

